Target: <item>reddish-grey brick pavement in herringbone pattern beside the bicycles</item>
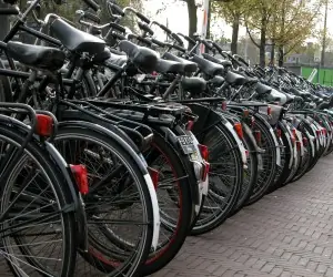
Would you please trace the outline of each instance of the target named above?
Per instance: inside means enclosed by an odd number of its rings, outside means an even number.
[[[153,277],[333,277],[332,181],[330,156],[214,232],[189,237],[176,258]]]

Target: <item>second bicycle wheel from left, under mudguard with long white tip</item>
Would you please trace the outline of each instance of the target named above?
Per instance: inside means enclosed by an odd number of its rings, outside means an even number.
[[[140,167],[117,141],[92,129],[59,126],[56,147],[87,166],[88,253],[77,276],[132,276],[152,245],[153,206]]]

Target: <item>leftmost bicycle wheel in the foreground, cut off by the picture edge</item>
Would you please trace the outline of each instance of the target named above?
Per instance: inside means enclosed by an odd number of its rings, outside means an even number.
[[[24,134],[1,125],[1,163],[24,140]],[[65,212],[71,194],[47,151],[30,141],[1,184],[1,254],[11,271],[16,276],[72,276],[75,218],[73,212]]]

